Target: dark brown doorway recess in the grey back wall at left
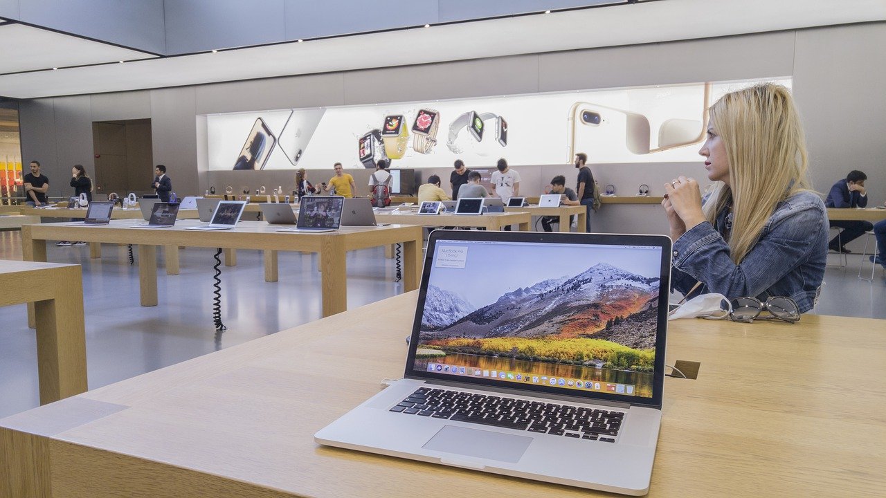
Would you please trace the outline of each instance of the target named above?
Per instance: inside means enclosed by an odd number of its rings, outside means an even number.
[[[150,191],[153,172],[151,120],[93,121],[96,192]]]

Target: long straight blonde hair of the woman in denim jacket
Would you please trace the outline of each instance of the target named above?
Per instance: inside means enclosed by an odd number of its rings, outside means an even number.
[[[711,124],[726,146],[729,183],[705,203],[705,218],[732,204],[729,249],[735,264],[757,244],[778,204],[810,190],[803,127],[788,89],[761,83],[727,93],[711,106]]]

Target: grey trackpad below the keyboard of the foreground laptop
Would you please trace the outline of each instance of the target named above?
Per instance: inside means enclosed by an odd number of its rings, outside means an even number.
[[[445,425],[424,443],[425,449],[517,463],[532,438]]]

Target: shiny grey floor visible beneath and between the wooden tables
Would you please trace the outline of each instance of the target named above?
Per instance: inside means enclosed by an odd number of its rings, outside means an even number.
[[[316,255],[280,253],[280,281],[264,281],[261,253],[238,251],[237,267],[221,266],[222,320],[216,334],[212,284],[214,251],[185,249],[181,274],[166,276],[159,257],[159,306],[138,305],[138,267],[125,246],[103,245],[102,259],[89,248],[50,245],[49,261],[83,266],[89,388],[234,346],[320,318],[320,273]],[[136,256],[137,257],[137,256]],[[0,259],[21,259],[18,231],[0,231]],[[833,257],[832,264],[836,264]],[[828,267],[817,313],[886,318],[886,277],[858,279],[861,258],[846,268]],[[393,282],[394,262],[381,248],[347,256],[348,307],[359,307],[402,292]],[[870,271],[870,263],[865,261]],[[6,289],[3,292],[15,292]],[[0,307],[0,417],[39,404],[36,345],[24,305]],[[884,325],[883,333],[886,333]]]

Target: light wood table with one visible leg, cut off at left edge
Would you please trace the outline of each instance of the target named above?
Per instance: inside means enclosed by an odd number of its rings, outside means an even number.
[[[33,303],[40,403],[86,392],[80,265],[0,260],[0,289],[0,306]]]

